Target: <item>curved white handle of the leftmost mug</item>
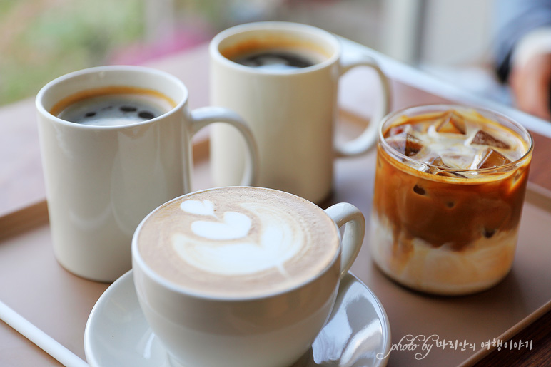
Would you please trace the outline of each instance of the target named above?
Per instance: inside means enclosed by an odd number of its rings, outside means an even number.
[[[240,115],[222,107],[202,107],[191,111],[191,135],[211,123],[228,123],[236,128],[247,143],[248,156],[241,186],[254,186],[258,180],[258,148],[253,133]]]

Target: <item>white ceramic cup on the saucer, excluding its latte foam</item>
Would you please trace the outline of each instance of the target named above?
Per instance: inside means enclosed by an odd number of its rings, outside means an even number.
[[[172,202],[181,206],[191,195],[193,193]],[[268,201],[268,207],[280,209],[278,200]],[[238,200],[233,200],[235,202]],[[159,207],[141,222],[132,241],[136,294],[149,326],[165,346],[173,366],[287,367],[308,351],[328,321],[340,279],[357,257],[365,233],[363,214],[353,205],[336,204],[324,213],[309,204],[327,219],[321,222],[335,226],[331,232],[338,242],[332,247],[335,252],[328,254],[328,264],[309,275],[308,280],[278,291],[270,291],[268,284],[262,296],[201,294],[168,281],[148,266],[138,243],[149,238],[148,234],[143,235],[147,233],[144,223],[148,217],[159,210],[163,213],[163,207],[172,203]],[[167,214],[168,210],[162,217],[166,218]],[[337,227],[343,226],[341,238]],[[173,235],[170,230],[161,232],[163,238]],[[213,237],[217,236],[213,234]],[[155,246],[157,249],[158,244]]]

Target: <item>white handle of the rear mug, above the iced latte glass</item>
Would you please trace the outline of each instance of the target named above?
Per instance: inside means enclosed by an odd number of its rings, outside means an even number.
[[[367,152],[377,140],[379,121],[383,120],[383,117],[389,112],[390,109],[390,83],[383,71],[380,70],[378,63],[374,58],[362,55],[361,59],[355,61],[341,61],[340,62],[340,76],[343,76],[347,71],[357,66],[368,66],[373,68],[380,80],[380,93],[383,95],[383,99],[380,104],[375,108],[375,113],[370,119],[370,123],[363,130],[363,133],[353,140],[344,143],[335,143],[335,152],[338,157],[351,157],[354,155],[360,155]]]

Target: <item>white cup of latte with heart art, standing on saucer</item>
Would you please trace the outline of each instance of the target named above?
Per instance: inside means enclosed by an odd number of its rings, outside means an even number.
[[[136,229],[138,301],[173,366],[290,366],[328,321],[364,232],[348,203],[324,211],[263,187],[192,192]]]

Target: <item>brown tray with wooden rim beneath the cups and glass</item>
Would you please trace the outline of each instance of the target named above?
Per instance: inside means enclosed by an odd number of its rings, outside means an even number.
[[[341,120],[347,122],[344,125],[348,134],[354,134],[365,123],[353,113],[341,113]],[[209,187],[208,140],[194,145],[194,157],[193,188]],[[333,197],[325,205],[351,202],[369,217],[374,162],[374,151],[364,157],[337,160]],[[385,306],[393,343],[400,343],[400,339],[408,335],[436,335],[440,340],[466,340],[477,346],[475,351],[433,346],[419,361],[412,351],[393,351],[389,366],[454,366],[478,352],[471,360],[474,361],[488,353],[486,349],[481,350],[482,342],[512,333],[550,309],[551,272],[547,259],[551,258],[551,249],[542,239],[551,238],[548,225],[551,210],[531,202],[535,198],[541,203],[541,197],[541,192],[532,190],[527,197],[512,272],[505,281],[482,294],[436,297],[408,291],[374,268],[368,244],[364,242],[352,272],[370,286]],[[81,279],[57,264],[51,248],[45,202],[0,217],[0,234],[0,279],[4,279],[0,284],[0,299],[77,356],[85,358],[86,319],[108,284]],[[0,328],[0,340],[10,341],[10,345],[0,347],[0,365],[59,366],[7,326]]]

